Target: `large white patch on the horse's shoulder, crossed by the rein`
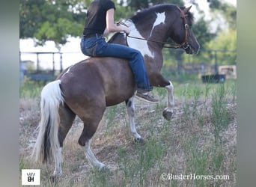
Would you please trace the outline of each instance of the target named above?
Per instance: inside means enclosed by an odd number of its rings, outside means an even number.
[[[129,36],[127,37],[127,44],[128,46],[138,49],[143,56],[147,55],[151,58],[154,57],[153,52],[150,51],[148,45],[147,45],[147,40],[139,40],[135,39],[132,37],[139,37],[141,39],[145,39],[144,37],[141,36],[137,28],[135,27],[134,23],[131,20],[127,20],[125,24],[130,28],[130,33]]]

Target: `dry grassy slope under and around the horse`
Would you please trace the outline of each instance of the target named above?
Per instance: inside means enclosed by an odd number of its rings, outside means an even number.
[[[63,176],[56,186],[236,186],[236,82],[174,84],[176,104],[170,121],[162,117],[165,89],[156,88],[154,94],[161,99],[157,105],[135,100],[143,146],[129,134],[124,103],[107,108],[91,144],[106,171],[91,168],[85,159],[77,143],[82,121],[76,118],[64,141]],[[19,168],[40,168],[41,186],[52,186],[49,175],[54,165],[40,165],[30,158],[39,102],[37,89],[33,93],[21,89]]]

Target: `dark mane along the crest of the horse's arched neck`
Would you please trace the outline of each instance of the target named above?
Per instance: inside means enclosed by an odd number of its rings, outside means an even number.
[[[177,8],[176,4],[157,4],[152,7],[145,8],[139,12],[137,12],[134,16],[132,16],[130,19],[132,22],[144,22],[144,19],[141,18],[147,18],[150,19],[153,16],[156,16],[155,12],[164,12],[166,10],[175,10]],[[181,10],[183,10],[185,7],[180,7]],[[188,16],[188,21],[190,25],[194,22],[194,16],[192,13],[188,12],[186,13]]]

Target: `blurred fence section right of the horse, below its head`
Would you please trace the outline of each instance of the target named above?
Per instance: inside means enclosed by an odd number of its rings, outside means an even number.
[[[185,79],[190,79],[189,75],[196,79],[203,79],[203,76],[223,79],[223,76],[226,77],[226,75],[228,75],[228,79],[237,78],[237,53],[235,50],[201,49],[197,55],[187,55],[183,49],[164,49],[163,54],[165,64],[168,64],[165,65],[165,69],[171,73],[172,78],[174,75],[179,80],[184,75]]]

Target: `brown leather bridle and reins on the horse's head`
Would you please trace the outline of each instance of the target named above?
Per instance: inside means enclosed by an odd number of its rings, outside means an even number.
[[[178,48],[187,49],[187,48],[189,48],[189,43],[188,43],[189,24],[187,23],[187,20],[186,20],[186,17],[188,16],[188,14],[186,14],[183,10],[181,10],[180,7],[177,7],[177,9],[180,10],[180,17],[183,18],[183,20],[184,20],[185,38],[184,38],[183,43],[178,44],[178,43],[162,42],[162,41],[157,41],[157,40],[145,39],[145,38],[142,38],[142,37],[132,37],[132,36],[129,36],[128,34],[126,34],[126,40],[127,40],[127,37],[131,37],[131,38],[135,38],[135,39],[138,39],[138,40],[147,40],[147,41],[150,41],[150,42],[162,43],[163,48],[174,48],[174,49],[178,49]],[[118,22],[118,24],[127,26],[124,22]]]

